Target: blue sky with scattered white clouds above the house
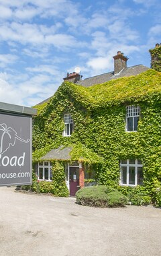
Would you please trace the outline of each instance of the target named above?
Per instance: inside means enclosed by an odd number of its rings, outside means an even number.
[[[150,67],[161,42],[160,0],[0,0],[0,101],[34,106],[52,96],[66,72],[83,79],[127,66]]]

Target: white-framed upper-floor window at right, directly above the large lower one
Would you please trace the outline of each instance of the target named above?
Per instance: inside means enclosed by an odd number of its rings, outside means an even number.
[[[137,131],[140,117],[139,106],[126,107],[126,131]]]

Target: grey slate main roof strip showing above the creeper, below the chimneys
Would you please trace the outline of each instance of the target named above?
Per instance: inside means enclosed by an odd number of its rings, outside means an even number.
[[[95,84],[103,84],[110,81],[111,79],[117,79],[120,77],[128,77],[131,75],[139,75],[144,71],[147,71],[149,68],[144,65],[136,65],[132,67],[126,67],[121,72],[114,74],[114,72],[104,73],[102,75],[95,75],[93,77],[86,78],[84,80],[78,81],[76,84],[81,86],[89,87],[94,86]]]

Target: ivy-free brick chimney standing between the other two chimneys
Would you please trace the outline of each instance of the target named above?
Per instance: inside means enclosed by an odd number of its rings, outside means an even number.
[[[113,56],[114,59],[114,73],[119,73],[123,68],[127,67],[127,57],[123,56],[121,51],[117,52],[117,55]]]

